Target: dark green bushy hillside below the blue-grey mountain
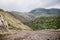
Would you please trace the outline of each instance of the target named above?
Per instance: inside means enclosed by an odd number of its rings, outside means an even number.
[[[33,30],[60,29],[60,14],[36,17],[28,25]]]

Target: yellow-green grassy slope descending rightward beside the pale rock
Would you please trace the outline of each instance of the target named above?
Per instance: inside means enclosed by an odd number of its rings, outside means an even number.
[[[5,20],[8,22],[9,29],[31,30],[28,26],[24,25],[20,20],[16,19],[8,12],[0,11],[0,14],[2,14]]]

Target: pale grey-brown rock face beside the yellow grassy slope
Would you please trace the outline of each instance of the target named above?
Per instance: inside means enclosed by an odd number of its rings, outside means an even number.
[[[0,14],[0,32],[7,32],[8,31],[8,23]]]

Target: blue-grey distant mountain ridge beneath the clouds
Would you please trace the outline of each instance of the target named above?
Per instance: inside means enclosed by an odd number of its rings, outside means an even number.
[[[60,14],[60,9],[51,8],[51,9],[45,9],[45,8],[36,8],[29,13],[33,13],[35,15],[39,14]]]

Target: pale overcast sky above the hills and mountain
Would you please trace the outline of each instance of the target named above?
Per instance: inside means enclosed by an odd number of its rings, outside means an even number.
[[[24,12],[35,8],[60,8],[60,0],[0,0],[0,8]]]

